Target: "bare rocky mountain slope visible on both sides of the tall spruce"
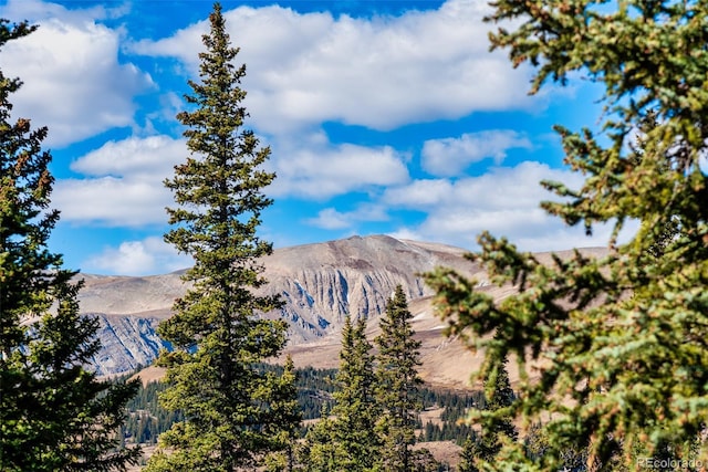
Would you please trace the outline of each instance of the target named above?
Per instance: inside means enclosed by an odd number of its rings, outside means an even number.
[[[288,321],[289,350],[315,356],[321,353],[320,364],[331,360],[336,365],[336,334],[347,314],[368,319],[375,329],[375,321],[385,311],[386,301],[397,284],[414,303],[431,295],[420,275],[423,272],[439,265],[468,274],[479,272],[464,254],[458,248],[385,235],[279,249],[263,260],[264,275],[270,281],[263,291],[281,294],[285,305],[269,316]],[[155,329],[169,316],[174,300],[185,291],[179,273],[83,277],[82,313],[97,316],[101,323],[98,335],[103,349],[94,358],[101,375],[149,365],[160,348],[169,347]],[[427,345],[435,352],[448,340],[440,336],[440,322],[433,317],[429,303],[424,302],[419,311],[419,321],[425,321],[419,331],[424,337],[433,336]]]

